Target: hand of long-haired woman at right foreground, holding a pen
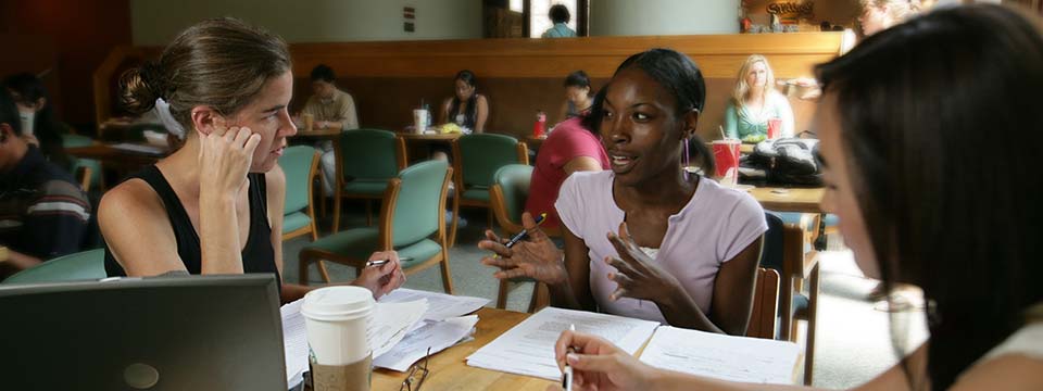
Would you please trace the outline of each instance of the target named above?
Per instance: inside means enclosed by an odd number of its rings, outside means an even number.
[[[571,348],[575,353],[569,353]],[[565,330],[554,344],[557,367],[573,367],[574,390],[649,389],[655,369],[599,337]],[[557,386],[548,390],[558,390]]]

